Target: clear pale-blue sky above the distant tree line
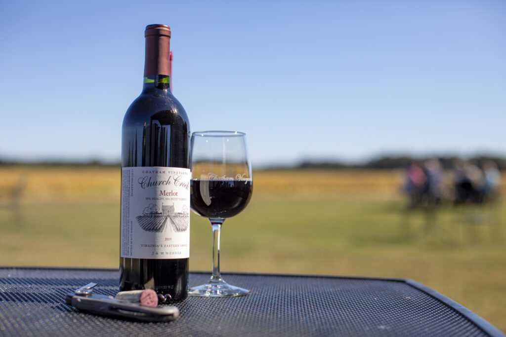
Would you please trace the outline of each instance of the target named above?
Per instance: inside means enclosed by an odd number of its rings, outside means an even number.
[[[254,166],[506,154],[502,0],[3,1],[0,158],[118,160],[152,23],[192,130]]]

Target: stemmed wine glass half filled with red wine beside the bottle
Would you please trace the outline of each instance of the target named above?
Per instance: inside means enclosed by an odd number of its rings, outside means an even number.
[[[205,284],[190,288],[190,296],[232,297],[248,290],[225,282],[220,275],[220,230],[226,218],[239,214],[251,199],[253,182],[246,134],[201,131],[191,137],[191,208],[209,219],[213,228],[213,274]]]

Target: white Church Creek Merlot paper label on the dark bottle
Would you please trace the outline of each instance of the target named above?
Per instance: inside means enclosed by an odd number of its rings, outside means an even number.
[[[190,177],[179,167],[123,167],[121,257],[190,257]]]

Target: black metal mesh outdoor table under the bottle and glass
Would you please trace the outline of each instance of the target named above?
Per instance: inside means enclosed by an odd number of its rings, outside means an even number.
[[[478,315],[412,280],[224,273],[245,297],[188,298],[170,323],[79,312],[65,294],[98,282],[114,295],[111,269],[0,268],[0,335],[504,336]],[[207,273],[192,273],[200,284]]]

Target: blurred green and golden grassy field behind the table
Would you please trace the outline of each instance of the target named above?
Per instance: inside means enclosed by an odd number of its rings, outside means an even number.
[[[3,194],[26,177],[19,214],[0,200],[0,265],[117,266],[118,169],[0,176]],[[399,171],[255,172],[251,203],[224,223],[222,269],[413,278],[506,330],[506,203],[445,207],[425,233],[401,181]],[[191,269],[209,270],[210,226],[192,214],[191,228]]]

